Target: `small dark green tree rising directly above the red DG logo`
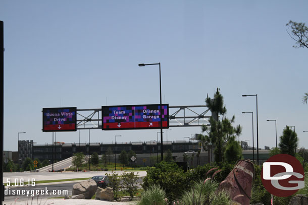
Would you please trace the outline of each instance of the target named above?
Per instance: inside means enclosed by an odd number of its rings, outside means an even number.
[[[291,127],[286,126],[280,136],[279,148],[281,150],[281,154],[295,156],[295,149],[297,148],[297,145],[298,138],[295,130],[292,130]]]

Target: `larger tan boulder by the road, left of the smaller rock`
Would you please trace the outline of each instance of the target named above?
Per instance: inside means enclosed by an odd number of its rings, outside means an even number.
[[[87,181],[74,184],[72,195],[82,194],[85,199],[91,199],[95,194],[96,188],[96,182],[93,179],[88,179]]]

